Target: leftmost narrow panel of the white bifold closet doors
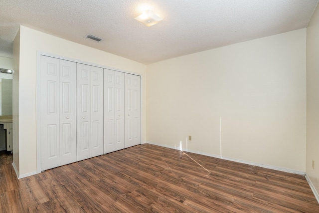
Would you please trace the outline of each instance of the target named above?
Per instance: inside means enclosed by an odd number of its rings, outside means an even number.
[[[60,166],[60,61],[41,55],[40,67],[41,170]]]

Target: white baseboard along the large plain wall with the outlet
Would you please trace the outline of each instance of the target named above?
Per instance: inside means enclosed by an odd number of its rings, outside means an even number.
[[[170,148],[170,149],[180,150],[179,147],[173,147],[173,146],[169,146],[169,145],[165,145],[165,144],[158,144],[158,143],[153,143],[153,142],[150,142],[150,141],[147,141],[146,143],[157,145],[157,146],[161,146],[161,147],[166,147],[166,148]],[[254,162],[250,162],[250,161],[244,161],[244,160],[239,160],[239,159],[235,159],[235,158],[222,157],[220,155],[214,155],[214,154],[209,154],[209,153],[204,153],[204,152],[199,152],[199,151],[189,150],[189,149],[183,149],[182,151],[191,152],[191,153],[200,154],[200,155],[205,155],[205,156],[210,156],[210,157],[219,158],[219,159],[224,159],[224,160],[228,160],[228,161],[234,161],[234,162],[248,164],[248,165],[257,166],[257,167],[263,167],[263,168],[267,168],[267,169],[273,169],[273,170],[277,170],[277,171],[281,171],[281,172],[288,172],[288,173],[293,173],[293,174],[298,174],[298,175],[305,176],[305,172],[301,172],[301,171],[298,171],[298,170],[286,169],[286,168],[281,168],[281,167],[276,167],[276,166],[271,166],[271,165],[265,165],[265,164],[258,164],[258,163],[254,163]]]

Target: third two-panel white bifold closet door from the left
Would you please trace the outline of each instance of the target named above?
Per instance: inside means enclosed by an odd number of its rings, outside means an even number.
[[[124,73],[104,69],[104,153],[125,148]]]

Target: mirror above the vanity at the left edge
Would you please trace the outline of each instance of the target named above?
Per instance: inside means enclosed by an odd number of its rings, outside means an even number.
[[[0,73],[0,115],[12,115],[12,74]]]

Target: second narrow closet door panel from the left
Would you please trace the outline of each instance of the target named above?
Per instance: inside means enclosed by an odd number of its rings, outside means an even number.
[[[60,60],[60,165],[77,161],[76,63]]]

